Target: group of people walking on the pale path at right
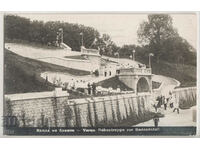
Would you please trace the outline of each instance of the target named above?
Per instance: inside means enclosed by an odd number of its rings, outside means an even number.
[[[179,114],[179,100],[176,97],[176,94],[172,92],[169,92],[169,97],[165,97],[163,95],[160,95],[157,97],[155,104],[153,105],[155,108],[155,116],[153,118],[154,126],[158,127],[159,122],[159,110],[164,107],[164,110],[167,110],[167,108],[173,109],[173,112],[176,112]],[[163,107],[162,107],[163,106]]]

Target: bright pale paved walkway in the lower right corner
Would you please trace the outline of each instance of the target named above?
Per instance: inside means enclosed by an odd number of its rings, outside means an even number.
[[[196,106],[190,109],[181,110],[180,113],[173,112],[173,109],[164,111],[165,117],[160,118],[158,126],[196,126],[196,122],[193,122],[193,110]],[[136,126],[154,126],[153,119],[147,122],[137,124]]]

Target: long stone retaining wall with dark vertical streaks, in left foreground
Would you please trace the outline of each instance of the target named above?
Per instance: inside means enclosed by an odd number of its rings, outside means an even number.
[[[21,100],[6,97],[5,115],[16,116],[20,127],[132,126],[153,115],[151,95],[147,93],[74,100],[68,96]]]

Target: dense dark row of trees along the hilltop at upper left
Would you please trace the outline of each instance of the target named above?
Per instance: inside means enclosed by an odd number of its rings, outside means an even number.
[[[84,25],[60,22],[60,21],[30,21],[27,18],[6,15],[5,38],[6,40],[24,40],[40,44],[54,44],[59,28],[63,29],[63,41],[73,50],[80,51],[81,36],[83,33],[83,43],[86,48],[90,48],[95,39],[99,39],[99,32],[92,27]]]

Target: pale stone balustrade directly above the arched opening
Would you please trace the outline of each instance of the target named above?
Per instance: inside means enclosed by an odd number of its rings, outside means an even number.
[[[151,68],[121,68],[120,75],[151,75]]]

